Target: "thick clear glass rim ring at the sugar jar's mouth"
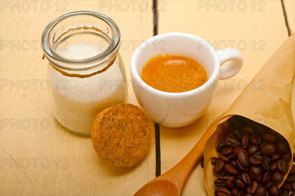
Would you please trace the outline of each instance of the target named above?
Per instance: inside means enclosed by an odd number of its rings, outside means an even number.
[[[69,59],[69,58],[65,58],[60,56],[59,54],[57,54],[51,47],[49,44],[49,40],[47,39],[49,37],[49,34],[51,32],[51,30],[59,24],[59,22],[63,21],[66,18],[69,17],[73,17],[73,16],[78,16],[78,15],[89,15],[89,16],[94,16],[102,21],[104,21],[107,25],[110,26],[110,28],[113,31],[113,37],[111,39],[111,42],[108,46],[108,48],[103,51],[102,53],[98,54],[97,56],[93,56],[89,59]],[[58,61],[61,62],[62,64],[85,64],[85,63],[92,63],[92,62],[96,62],[96,61],[100,61],[101,59],[105,58],[106,56],[109,56],[112,53],[117,53],[118,52],[118,45],[119,45],[119,41],[120,41],[120,31],[119,28],[117,26],[117,24],[108,16],[98,13],[98,12],[94,12],[94,11],[74,11],[74,12],[70,12],[64,15],[59,16],[58,18],[54,19],[52,22],[50,22],[47,27],[44,29],[43,33],[42,33],[42,38],[41,38],[41,45],[42,45],[42,49],[44,51],[44,55],[50,59],[52,59],[53,61]],[[116,50],[117,49],[117,50]],[[54,63],[56,65],[56,63]],[[60,67],[60,65],[58,65]],[[64,66],[62,66],[62,68],[65,68]]]

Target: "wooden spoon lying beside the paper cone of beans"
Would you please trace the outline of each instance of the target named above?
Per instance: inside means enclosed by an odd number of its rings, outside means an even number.
[[[218,120],[210,125],[198,143],[176,166],[149,181],[134,196],[180,196],[188,175],[203,158],[205,143],[214,132],[216,122]]]

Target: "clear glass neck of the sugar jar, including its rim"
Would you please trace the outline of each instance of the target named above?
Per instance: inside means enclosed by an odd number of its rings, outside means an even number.
[[[58,71],[87,75],[116,59],[120,32],[109,17],[90,11],[71,12],[52,21],[42,34],[44,56]]]

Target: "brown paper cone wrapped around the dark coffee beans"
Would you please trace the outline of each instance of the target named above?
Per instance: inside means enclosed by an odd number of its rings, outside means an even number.
[[[228,111],[218,118],[221,119],[217,122],[219,125],[204,148],[204,179],[208,196],[214,196],[216,188],[214,181],[217,179],[212,171],[213,166],[210,164],[210,159],[218,157],[216,145],[219,141],[224,140],[228,126],[226,120],[231,116],[240,115],[249,118],[280,133],[288,140],[293,155],[295,130],[291,94],[294,75],[295,35],[293,34],[254,77],[255,82],[247,85]],[[260,86],[253,86],[253,84],[260,84]],[[292,160],[289,163],[289,170],[291,166]]]

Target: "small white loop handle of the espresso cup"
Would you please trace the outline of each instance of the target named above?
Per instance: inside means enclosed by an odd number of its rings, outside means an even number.
[[[217,51],[217,56],[219,57],[220,65],[229,61],[227,64],[220,67],[220,80],[225,80],[235,76],[242,68],[243,58],[234,48],[225,48],[219,50]]]

